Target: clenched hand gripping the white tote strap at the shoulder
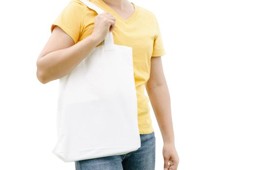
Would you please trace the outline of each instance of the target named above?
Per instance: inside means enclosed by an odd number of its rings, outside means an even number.
[[[113,31],[115,23],[116,18],[112,14],[108,12],[98,14],[95,17],[92,35],[102,42],[107,37],[108,32]]]

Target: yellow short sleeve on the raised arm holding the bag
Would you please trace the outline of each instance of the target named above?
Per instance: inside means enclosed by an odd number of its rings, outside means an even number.
[[[77,43],[81,33],[83,16],[81,5],[71,0],[52,23],[51,33],[55,25],[58,25],[75,43]]]

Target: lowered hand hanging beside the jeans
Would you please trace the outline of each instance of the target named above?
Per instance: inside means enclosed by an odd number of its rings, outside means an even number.
[[[163,144],[163,159],[164,170],[177,170],[179,158],[174,143]]]

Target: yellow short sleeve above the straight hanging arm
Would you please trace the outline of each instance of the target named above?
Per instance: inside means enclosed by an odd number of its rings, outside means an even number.
[[[152,57],[158,57],[158,56],[162,56],[165,54],[165,50],[164,50],[164,46],[163,46],[163,42],[162,42],[162,36],[160,33],[160,28],[158,25],[158,20],[157,17],[154,15],[155,17],[155,24],[156,24],[156,35],[154,38],[154,45],[153,45],[153,52],[152,52]]]

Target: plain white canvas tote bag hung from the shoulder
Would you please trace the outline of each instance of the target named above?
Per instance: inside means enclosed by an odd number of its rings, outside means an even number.
[[[98,14],[104,11],[81,0]],[[140,147],[132,47],[103,44],[59,79],[58,142],[53,153],[72,162],[136,151]]]

